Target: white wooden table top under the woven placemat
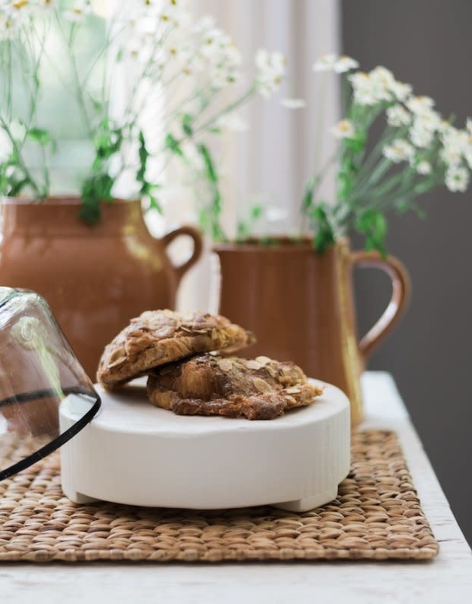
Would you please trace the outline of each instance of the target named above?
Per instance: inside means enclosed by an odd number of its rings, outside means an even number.
[[[365,428],[399,435],[436,539],[431,562],[4,564],[2,604],[449,604],[472,602],[472,554],[392,377],[366,373]]]

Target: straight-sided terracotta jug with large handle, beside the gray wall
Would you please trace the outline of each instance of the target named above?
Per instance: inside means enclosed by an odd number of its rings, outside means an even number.
[[[360,373],[369,354],[405,308],[406,269],[377,252],[351,252],[340,240],[324,254],[311,242],[215,246],[221,266],[220,312],[253,330],[257,344],[243,356],[294,361],[310,377],[337,385],[351,400],[352,425],[362,418]],[[389,306],[358,342],[352,269],[375,266],[392,280]]]

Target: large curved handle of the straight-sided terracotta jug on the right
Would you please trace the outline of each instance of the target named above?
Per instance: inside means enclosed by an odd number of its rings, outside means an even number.
[[[392,280],[392,298],[377,323],[364,335],[359,342],[359,351],[363,360],[372,353],[373,349],[392,330],[400,318],[410,297],[410,277],[405,266],[395,257],[382,257],[375,251],[351,252],[352,266],[379,268],[385,271]]]

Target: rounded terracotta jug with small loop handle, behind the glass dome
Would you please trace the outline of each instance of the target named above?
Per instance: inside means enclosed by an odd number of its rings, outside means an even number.
[[[80,199],[0,202],[0,285],[31,289],[47,300],[89,377],[103,347],[143,310],[175,306],[179,281],[202,250],[198,231],[183,226],[151,236],[138,200],[102,204],[88,226]],[[173,266],[167,246],[193,239],[193,254]]]

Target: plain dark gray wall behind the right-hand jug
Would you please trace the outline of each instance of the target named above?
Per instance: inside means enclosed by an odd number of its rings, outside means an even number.
[[[472,2],[342,0],[343,49],[365,70],[384,65],[436,100],[462,126],[472,117]],[[439,481],[472,542],[472,188],[421,198],[425,220],[392,217],[389,251],[412,277],[404,320],[372,356],[390,371]],[[375,320],[389,295],[372,271],[356,278],[359,329]]]

